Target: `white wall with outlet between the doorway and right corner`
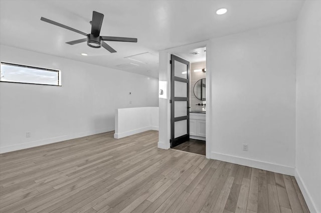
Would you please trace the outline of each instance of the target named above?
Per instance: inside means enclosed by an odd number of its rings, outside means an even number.
[[[213,38],[208,49],[211,158],[293,175],[295,22]]]

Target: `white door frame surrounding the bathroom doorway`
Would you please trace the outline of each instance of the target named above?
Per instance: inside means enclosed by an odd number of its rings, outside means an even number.
[[[198,48],[206,46],[206,67],[212,67],[210,64],[212,61],[209,60],[211,49],[209,48],[209,40],[201,41],[197,43],[187,44],[174,48],[164,49],[159,51],[159,136],[158,136],[158,148],[169,149],[171,147],[171,54],[178,52],[188,51],[192,48]],[[213,70],[206,72],[206,158],[210,158],[211,153],[211,78]],[[162,90],[162,92],[161,92]],[[161,94],[162,93],[162,94]]]

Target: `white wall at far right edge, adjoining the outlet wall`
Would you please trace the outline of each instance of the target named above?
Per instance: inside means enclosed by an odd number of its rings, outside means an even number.
[[[321,1],[297,18],[295,177],[311,212],[321,212]]]

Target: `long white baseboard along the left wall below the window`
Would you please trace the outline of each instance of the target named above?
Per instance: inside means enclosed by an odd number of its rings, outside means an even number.
[[[30,141],[30,142],[25,142],[25,143],[8,145],[8,146],[0,147],[0,153],[17,151],[17,150],[21,150],[21,149],[25,149],[25,148],[32,148],[32,147],[36,147],[36,146],[40,146],[40,145],[46,145],[46,144],[60,142],[60,141],[69,140],[69,139],[74,139],[74,138],[78,138],[78,137],[99,134],[102,132],[107,132],[107,131],[112,131],[112,130],[114,130],[114,129],[111,129],[111,128],[95,129],[93,131],[76,132],[76,133],[73,133],[70,135],[61,135],[61,136],[57,136],[57,137],[49,137],[49,138],[34,140],[34,141]]]

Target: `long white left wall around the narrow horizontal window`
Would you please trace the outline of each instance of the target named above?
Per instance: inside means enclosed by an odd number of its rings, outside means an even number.
[[[62,73],[61,87],[0,83],[1,152],[111,131],[115,108],[158,105],[156,78],[6,45],[1,61]]]

